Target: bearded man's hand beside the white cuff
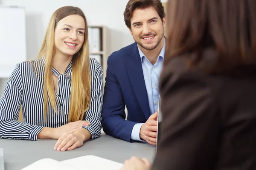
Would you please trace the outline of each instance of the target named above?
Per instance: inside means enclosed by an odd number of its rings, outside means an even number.
[[[157,114],[158,109],[140,128],[140,139],[153,145],[157,145]]]

